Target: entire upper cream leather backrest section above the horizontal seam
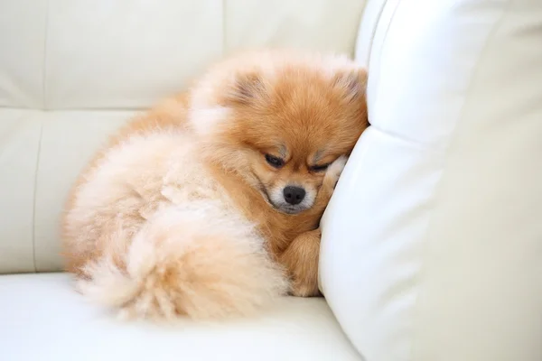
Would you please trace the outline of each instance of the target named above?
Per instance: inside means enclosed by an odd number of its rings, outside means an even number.
[[[0,105],[134,108],[183,89],[223,53],[353,53],[362,0],[18,0],[0,3]],[[15,41],[16,39],[16,41]]]

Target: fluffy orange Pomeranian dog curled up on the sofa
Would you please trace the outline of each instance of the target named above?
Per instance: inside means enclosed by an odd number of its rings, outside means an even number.
[[[125,316],[247,316],[318,295],[320,218],[369,125],[335,55],[223,60],[114,135],[62,219],[79,292]]]

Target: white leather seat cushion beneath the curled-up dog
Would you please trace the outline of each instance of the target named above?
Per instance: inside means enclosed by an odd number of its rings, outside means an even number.
[[[123,322],[67,274],[0,275],[3,361],[362,361],[323,299],[285,298],[253,319]]]

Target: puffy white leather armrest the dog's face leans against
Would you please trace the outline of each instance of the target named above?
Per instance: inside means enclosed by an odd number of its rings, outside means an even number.
[[[372,0],[372,126],[322,222],[367,360],[542,360],[542,2]]]

